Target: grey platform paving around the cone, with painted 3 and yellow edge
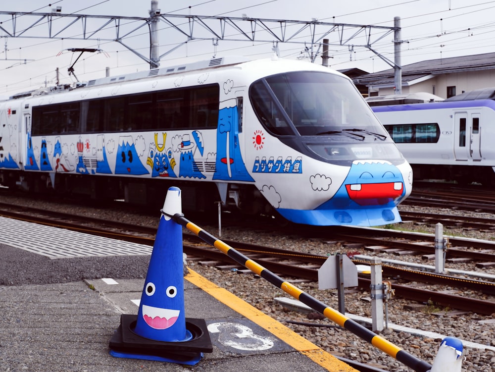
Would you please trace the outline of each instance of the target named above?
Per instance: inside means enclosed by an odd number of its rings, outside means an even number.
[[[282,323],[189,270],[186,316],[204,319],[213,347],[194,366],[114,358],[121,314],[137,314],[145,279],[0,286],[2,371],[355,372]]]

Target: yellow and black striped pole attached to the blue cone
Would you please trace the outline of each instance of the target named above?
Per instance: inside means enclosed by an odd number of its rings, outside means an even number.
[[[162,211],[163,213],[163,211]],[[231,259],[233,259],[238,264],[245,266],[255,274],[258,274],[262,278],[268,280],[270,283],[276,287],[282,289],[284,292],[290,294],[295,299],[299,300],[303,304],[306,304],[313,310],[320,314],[323,314],[328,319],[336,322],[341,327],[351,331],[363,340],[371,343],[373,346],[387,353],[391,357],[395,358],[397,361],[403,363],[407,367],[413,369],[416,372],[428,372],[431,370],[432,366],[425,361],[422,361],[415,356],[404,351],[400,347],[394,345],[393,343],[387,341],[385,338],[377,335],[376,333],[370,331],[368,328],[360,325],[352,319],[347,318],[344,314],[332,309],[331,307],[325,305],[323,302],[315,299],[314,297],[308,295],[301,289],[292,285],[291,283],[283,280],[280,276],[275,275],[273,272],[267,270],[261,265],[258,265],[254,261],[250,260],[248,257],[244,256],[242,253],[236,251],[234,248],[225,244],[221,240],[218,240],[213,235],[204,231],[199,226],[195,225],[193,222],[189,221],[184,215],[177,213],[173,216],[175,222],[187,228],[189,231],[195,233],[199,238],[204,240],[209,245],[219,249]]]

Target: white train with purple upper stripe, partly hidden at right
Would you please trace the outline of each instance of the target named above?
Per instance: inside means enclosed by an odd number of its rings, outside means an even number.
[[[495,184],[495,89],[443,102],[373,106],[415,179]]]

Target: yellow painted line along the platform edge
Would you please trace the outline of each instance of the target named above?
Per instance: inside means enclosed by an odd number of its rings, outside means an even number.
[[[333,355],[306,340],[304,337],[298,335],[281,322],[270,318],[266,314],[263,314],[255,307],[249,305],[246,301],[233,295],[226,289],[217,286],[215,283],[199,275],[194,270],[191,270],[191,268],[188,269],[189,274],[185,276],[185,279],[189,282],[195,284],[210,296],[216,298],[218,301],[235,310],[237,313],[266,329],[286,344],[299,351],[301,354],[304,354],[313,362],[325,368],[327,371],[357,372],[357,370],[353,369],[346,363],[341,362]]]

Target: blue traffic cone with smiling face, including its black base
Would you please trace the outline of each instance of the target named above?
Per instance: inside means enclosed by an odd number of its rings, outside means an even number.
[[[122,315],[110,355],[195,365],[213,348],[204,319],[186,318],[181,190],[170,187],[149,260],[138,315]]]

